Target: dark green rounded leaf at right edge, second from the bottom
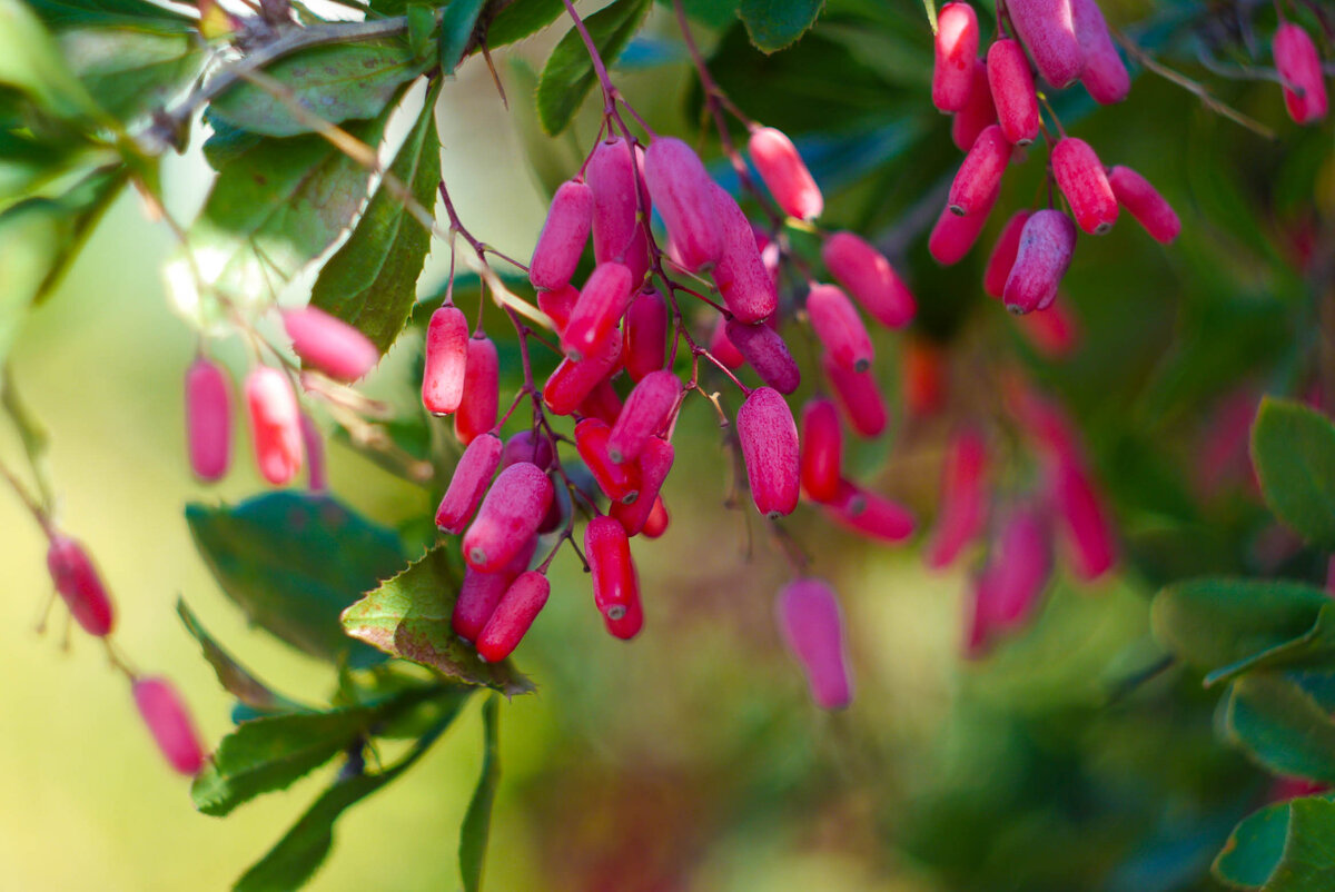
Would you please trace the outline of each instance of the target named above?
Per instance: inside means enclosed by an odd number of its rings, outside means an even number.
[[[1234,681],[1224,729],[1276,774],[1335,783],[1335,721],[1292,678],[1255,672]]]

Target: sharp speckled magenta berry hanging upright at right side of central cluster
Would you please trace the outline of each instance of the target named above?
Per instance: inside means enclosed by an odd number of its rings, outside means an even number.
[[[756,510],[765,517],[792,514],[800,490],[797,423],[788,402],[772,387],[757,387],[737,410],[737,439]]]

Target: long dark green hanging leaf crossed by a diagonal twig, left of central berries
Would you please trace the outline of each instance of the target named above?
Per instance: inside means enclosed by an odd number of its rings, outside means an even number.
[[[441,138],[435,130],[439,91],[437,79],[390,167],[427,210],[435,207],[441,180]],[[311,306],[355,326],[384,354],[413,311],[417,280],[430,247],[431,235],[382,183],[352,235],[320,270]]]

